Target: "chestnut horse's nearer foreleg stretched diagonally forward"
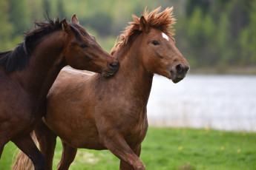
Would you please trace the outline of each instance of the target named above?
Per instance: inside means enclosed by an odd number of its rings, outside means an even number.
[[[101,138],[101,141],[108,150],[116,155],[116,157],[119,157],[121,161],[124,161],[131,166],[134,170],[145,170],[144,163],[142,163],[140,157],[138,157],[130,146],[128,146],[128,143],[126,143],[123,137],[115,136],[110,138],[105,136]]]

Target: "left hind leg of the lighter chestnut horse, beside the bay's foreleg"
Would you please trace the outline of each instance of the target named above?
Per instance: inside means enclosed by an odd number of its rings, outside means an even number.
[[[40,151],[45,157],[45,169],[53,168],[53,156],[56,146],[56,135],[45,125],[42,120],[36,124],[34,129],[36,138],[39,141]]]

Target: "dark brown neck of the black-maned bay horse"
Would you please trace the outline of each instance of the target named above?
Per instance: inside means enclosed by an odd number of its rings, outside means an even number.
[[[33,47],[28,67],[16,72],[21,86],[36,100],[45,100],[50,86],[65,67],[64,48],[65,34],[62,30],[46,35]]]

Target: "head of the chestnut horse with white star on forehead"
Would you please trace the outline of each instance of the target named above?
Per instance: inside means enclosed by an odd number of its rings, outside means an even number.
[[[134,16],[134,21],[140,27],[140,49],[142,62],[148,72],[163,75],[177,83],[185,78],[189,65],[180,51],[175,47],[171,37],[171,24],[175,19],[171,17],[172,8],[167,8],[156,14],[160,8],[149,15],[140,18]],[[138,21],[140,19],[140,21]]]

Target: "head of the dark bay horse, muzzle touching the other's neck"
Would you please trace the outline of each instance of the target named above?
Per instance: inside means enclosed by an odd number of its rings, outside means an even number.
[[[62,21],[65,32],[65,60],[75,69],[87,69],[105,76],[113,75],[119,63],[108,52],[102,50],[93,35],[89,34],[74,14],[70,24]]]

